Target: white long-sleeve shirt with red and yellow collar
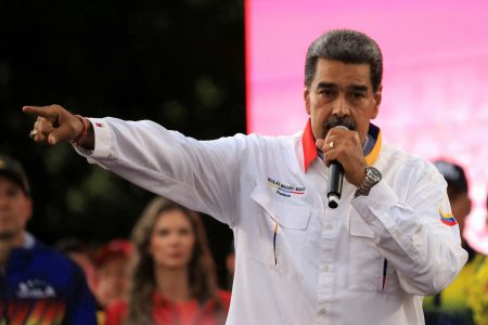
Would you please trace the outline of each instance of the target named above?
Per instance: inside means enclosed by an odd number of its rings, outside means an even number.
[[[354,198],[344,180],[330,209],[309,123],[290,136],[196,141],[151,121],[91,122],[94,151],[77,148],[89,161],[232,229],[228,324],[423,324],[423,296],[467,259],[444,178],[378,132],[365,161],[382,181]]]

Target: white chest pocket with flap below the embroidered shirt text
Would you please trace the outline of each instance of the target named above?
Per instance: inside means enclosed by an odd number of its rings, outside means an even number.
[[[260,251],[257,259],[278,272],[297,270],[300,264],[311,208],[293,198],[274,197],[269,187],[258,185],[251,197],[258,205],[256,235]]]

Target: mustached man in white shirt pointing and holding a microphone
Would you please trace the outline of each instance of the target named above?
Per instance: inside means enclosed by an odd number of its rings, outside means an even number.
[[[151,121],[37,115],[36,142],[72,141],[125,179],[229,224],[236,264],[228,324],[423,324],[422,299],[467,255],[432,164],[382,143],[382,54],[355,30],[307,52],[305,130],[196,141]],[[345,128],[335,128],[344,126]],[[328,203],[329,166],[345,181]]]

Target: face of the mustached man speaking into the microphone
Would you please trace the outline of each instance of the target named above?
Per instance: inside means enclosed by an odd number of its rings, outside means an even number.
[[[304,99],[316,139],[324,139],[331,128],[345,125],[358,131],[364,143],[370,120],[378,112],[382,88],[373,92],[368,64],[319,58]]]

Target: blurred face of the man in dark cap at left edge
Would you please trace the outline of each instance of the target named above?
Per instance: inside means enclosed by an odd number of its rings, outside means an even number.
[[[21,239],[30,213],[30,198],[10,178],[0,176],[0,239]]]

